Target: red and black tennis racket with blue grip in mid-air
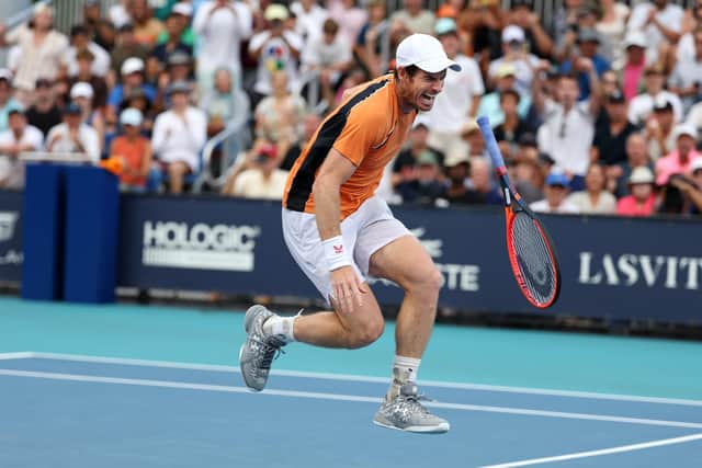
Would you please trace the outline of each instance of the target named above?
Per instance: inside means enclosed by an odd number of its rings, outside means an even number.
[[[536,215],[512,189],[500,149],[487,117],[478,117],[488,155],[505,196],[507,252],[514,278],[526,299],[545,309],[553,306],[561,290],[561,269],[553,241]]]

